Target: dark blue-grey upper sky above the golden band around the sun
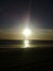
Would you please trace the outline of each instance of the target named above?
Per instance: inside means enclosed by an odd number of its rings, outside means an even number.
[[[53,0],[0,0],[0,29],[29,27],[53,29]]]

